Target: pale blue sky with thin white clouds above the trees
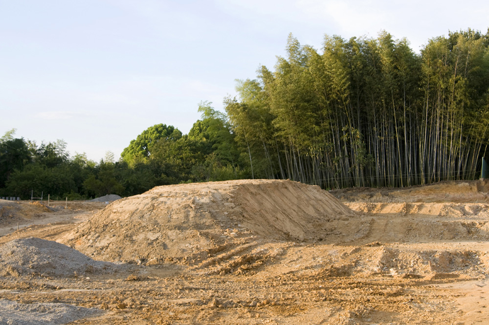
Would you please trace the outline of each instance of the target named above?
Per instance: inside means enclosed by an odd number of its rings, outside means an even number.
[[[188,133],[201,101],[223,111],[289,33],[321,52],[324,35],[385,30],[419,52],[488,17],[487,0],[0,0],[0,137],[117,160],[155,124]]]

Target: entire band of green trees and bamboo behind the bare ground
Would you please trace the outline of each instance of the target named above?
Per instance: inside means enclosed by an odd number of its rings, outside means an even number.
[[[289,35],[287,57],[238,80],[226,114],[201,102],[190,132],[157,124],[114,161],[66,143],[0,139],[0,196],[128,196],[154,186],[279,178],[323,188],[411,186],[480,175],[489,141],[489,31],[405,39]]]

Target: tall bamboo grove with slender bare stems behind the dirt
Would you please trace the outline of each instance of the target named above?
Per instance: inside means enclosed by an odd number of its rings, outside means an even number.
[[[253,178],[324,188],[476,179],[489,141],[489,32],[405,39],[289,35],[287,58],[238,80],[226,113]]]

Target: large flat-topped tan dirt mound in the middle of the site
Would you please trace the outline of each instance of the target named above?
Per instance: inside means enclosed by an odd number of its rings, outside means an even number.
[[[315,241],[355,212],[318,186],[241,180],[159,186],[109,205],[62,242],[97,259],[197,263],[259,238]]]

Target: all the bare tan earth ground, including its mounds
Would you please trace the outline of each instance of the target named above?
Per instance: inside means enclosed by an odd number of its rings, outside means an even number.
[[[255,180],[0,200],[0,324],[489,324],[488,192]]]

